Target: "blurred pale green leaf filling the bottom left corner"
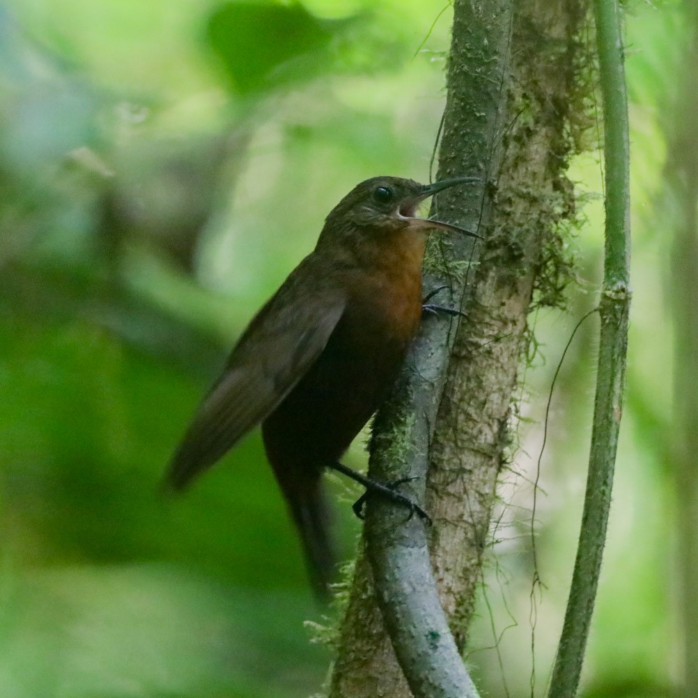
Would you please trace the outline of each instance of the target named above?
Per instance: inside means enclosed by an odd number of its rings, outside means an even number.
[[[271,698],[321,681],[325,653],[307,644],[298,593],[163,564],[56,566],[2,581],[3,698]]]

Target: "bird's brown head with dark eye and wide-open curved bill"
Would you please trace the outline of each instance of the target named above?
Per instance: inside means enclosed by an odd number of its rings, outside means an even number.
[[[434,184],[419,184],[401,177],[372,177],[357,184],[327,216],[326,228],[372,228],[378,232],[426,231],[438,228],[479,237],[456,225],[418,218],[419,204],[438,191],[456,184],[481,181],[479,177],[454,177]]]

